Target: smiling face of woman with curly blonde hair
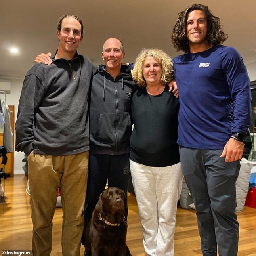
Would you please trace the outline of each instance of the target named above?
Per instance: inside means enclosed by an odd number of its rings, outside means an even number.
[[[142,73],[147,86],[161,84],[162,67],[153,56],[145,58]]]

